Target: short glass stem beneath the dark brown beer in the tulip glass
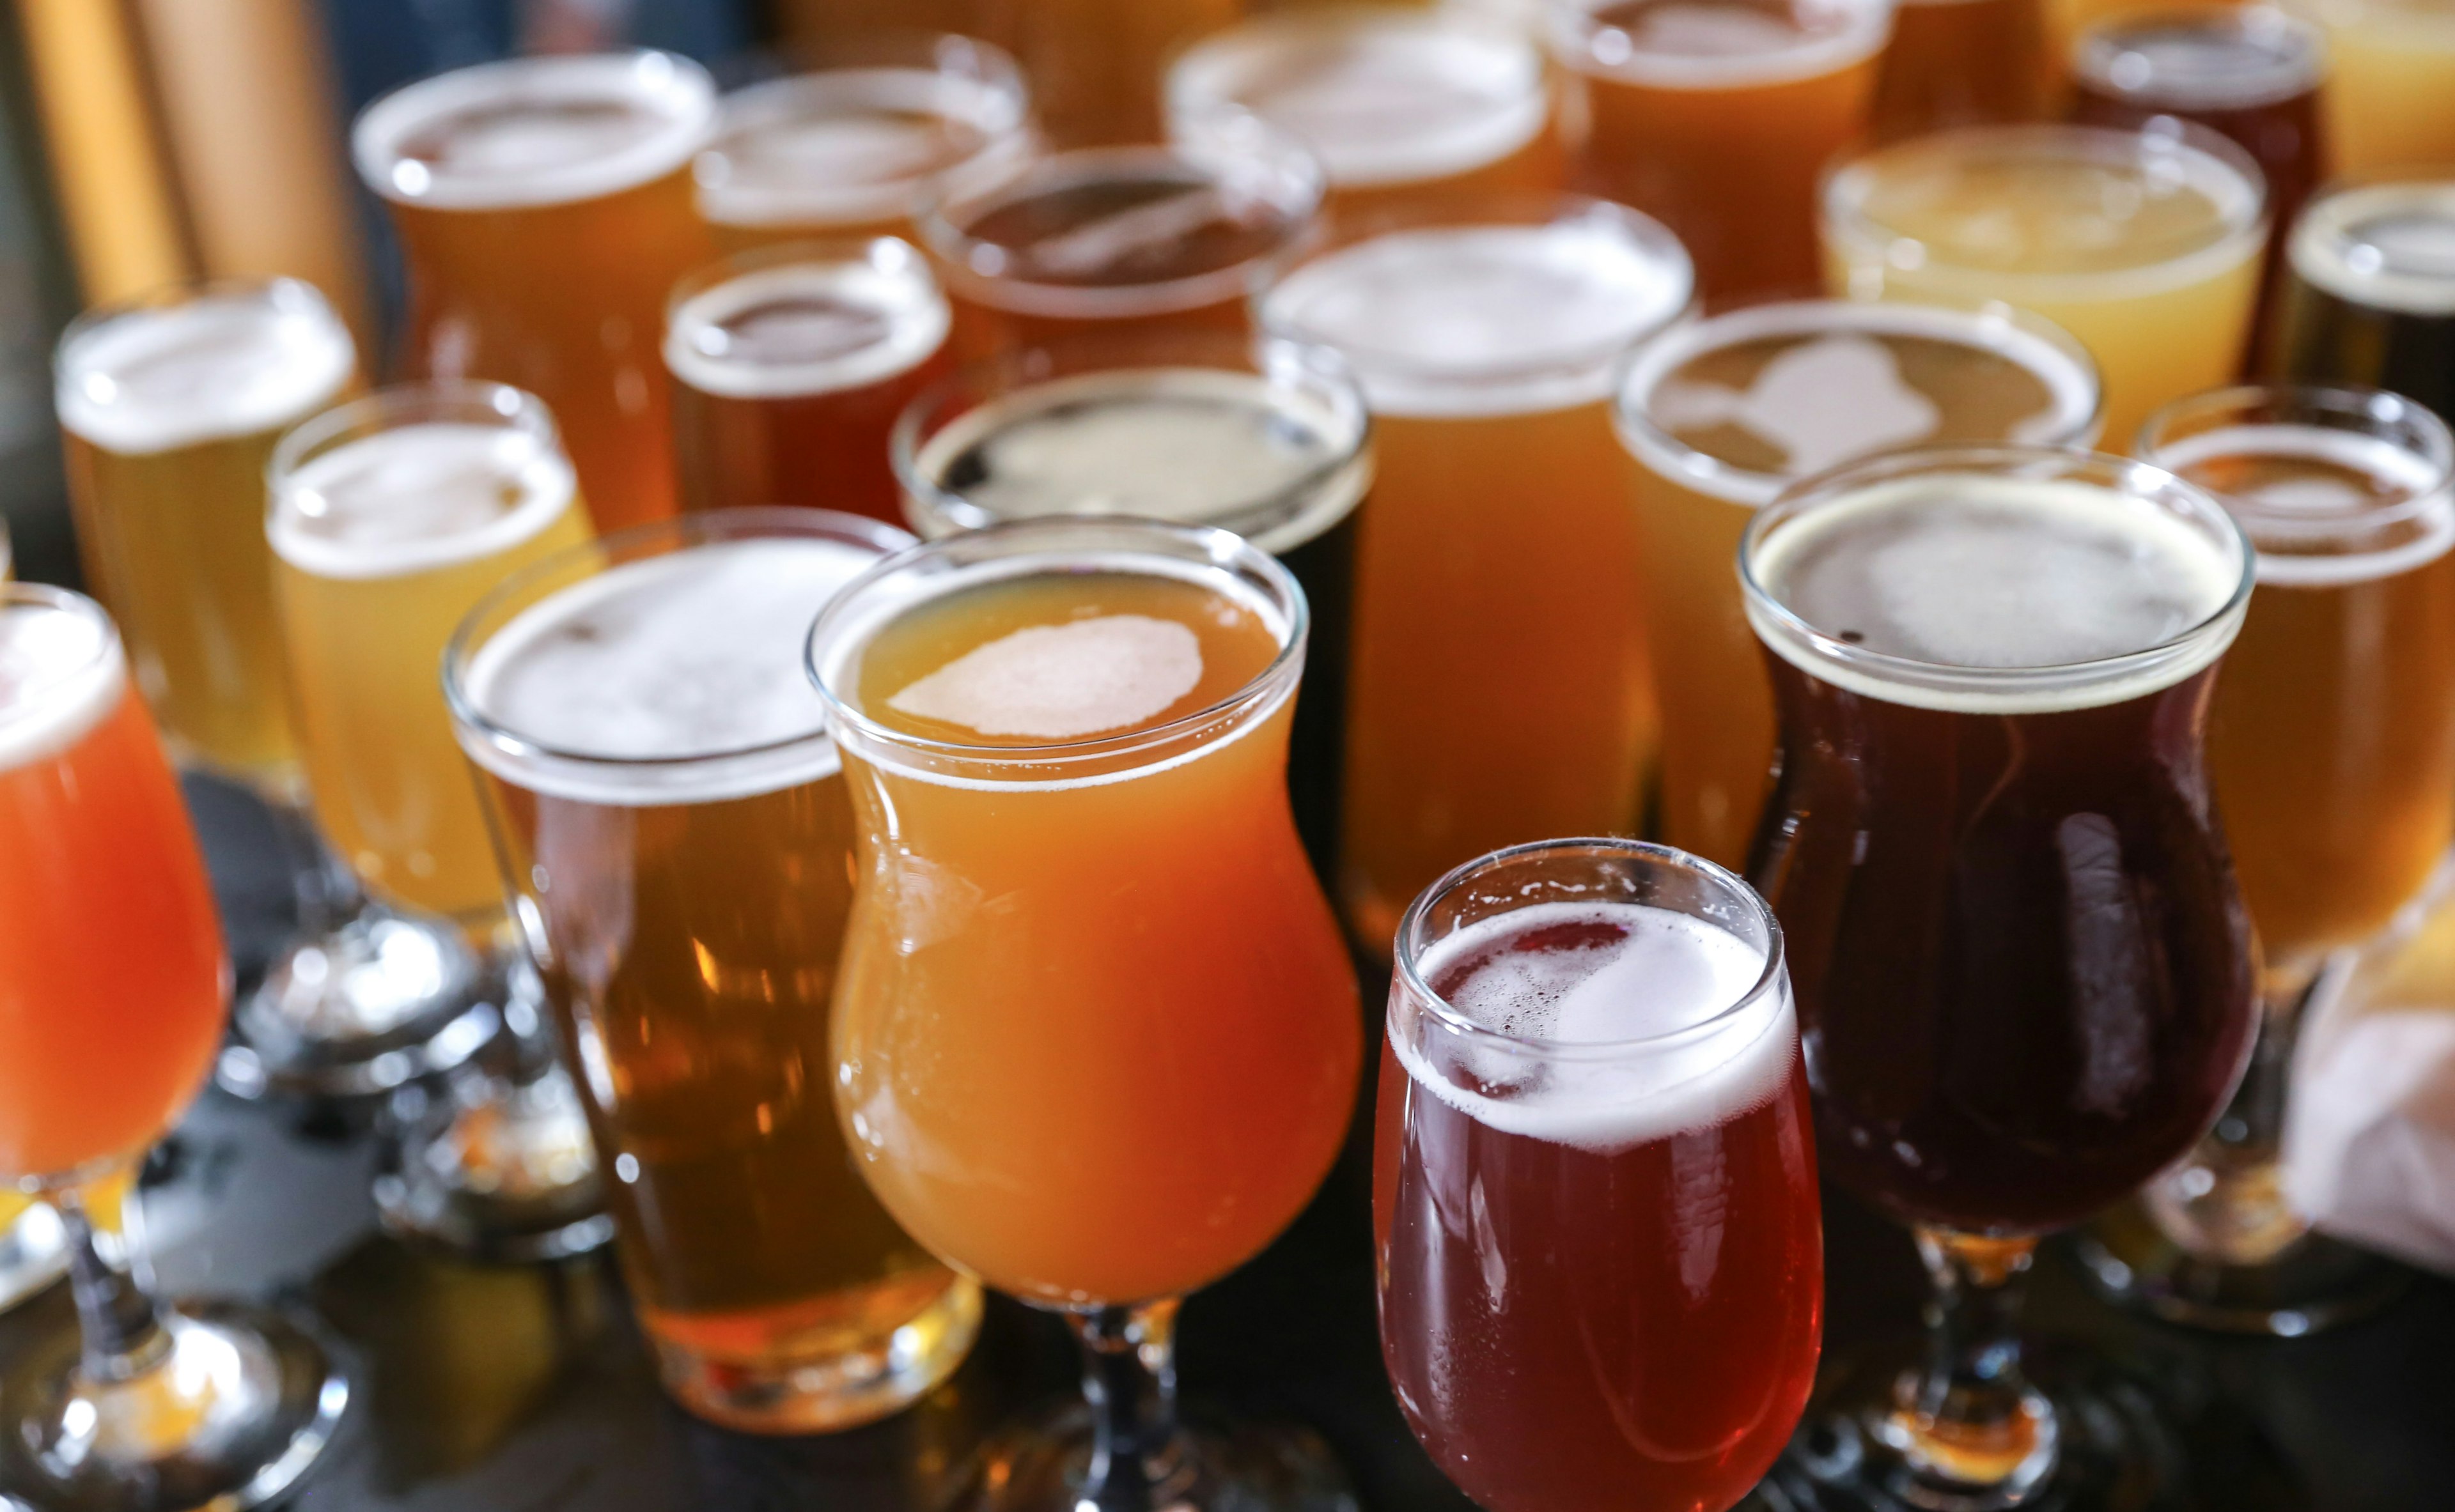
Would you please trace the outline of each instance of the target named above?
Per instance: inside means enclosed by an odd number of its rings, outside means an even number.
[[[2055,1409],[2020,1372],[2020,1301],[2038,1240],[1917,1230],[1935,1294],[1927,1367],[1905,1377],[1890,1433],[1925,1480],[2020,1490],[2055,1468]]]

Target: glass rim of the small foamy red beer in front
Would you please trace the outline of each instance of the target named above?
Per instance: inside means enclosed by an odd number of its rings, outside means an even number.
[[[1488,1024],[1475,1024],[1461,1014],[1446,997],[1431,989],[1424,979],[1424,952],[1439,940],[1419,940],[1424,933],[1424,920],[1431,911],[1451,893],[1471,886],[1485,871],[1502,869],[1512,862],[1547,854],[1598,854],[1598,857],[1625,857],[1635,862],[1647,862],[1655,866],[1689,869],[1714,886],[1723,889],[1738,898],[1746,911],[1765,930],[1765,967],[1755,974],[1755,982],[1738,994],[1733,1001],[1723,1004],[1706,1019],[1696,1024],[1682,1024],[1679,1028],[1662,1028],[1655,1033],[1640,1033],[1628,1038],[1608,1041],[1549,1041],[1532,1038],[1522,1033],[1510,1033],[1505,1028],[1493,1028]],[[1505,918],[1495,913],[1493,918]],[[1709,920],[1711,923],[1711,920]],[[1721,925],[1716,925],[1721,928]],[[1431,881],[1424,891],[1407,903],[1407,913],[1397,920],[1397,938],[1392,940],[1390,957],[1397,970],[1397,979],[1407,994],[1412,994],[1421,1009],[1448,1033],[1458,1038],[1505,1046],[1517,1053],[1539,1055],[1547,1060],[1613,1060],[1635,1051],[1674,1048],[1694,1038],[1721,1031],[1731,1019],[1746,1014],[1765,999],[1768,992],[1780,992],[1787,972],[1787,952],[1782,943],[1782,920],[1775,918],[1773,906],[1758,893],[1746,876],[1731,871],[1718,862],[1709,862],[1694,852],[1684,852],[1672,844],[1660,844],[1655,839],[1625,839],[1618,835],[1586,835],[1571,839],[1529,839],[1525,844],[1507,844],[1495,852],[1485,852],[1471,862],[1461,862]]]

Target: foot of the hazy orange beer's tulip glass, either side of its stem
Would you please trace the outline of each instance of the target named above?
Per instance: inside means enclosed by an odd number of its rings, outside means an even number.
[[[1090,1411],[1075,1402],[989,1438],[965,1465],[945,1512],[1085,1512]],[[1186,1424],[1146,1465],[1159,1512],[1355,1512],[1331,1448],[1284,1424]]]

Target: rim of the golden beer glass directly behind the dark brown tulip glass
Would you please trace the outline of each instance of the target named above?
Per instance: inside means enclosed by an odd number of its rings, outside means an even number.
[[[1841,319],[1829,322],[1829,326],[1809,324],[1814,312],[1829,309]],[[1846,314],[1841,314],[1846,312]],[[2057,358],[2072,366],[2072,373],[2087,383],[2087,410],[2070,417],[2062,427],[2065,434],[2057,439],[2040,439],[2025,444],[2045,447],[2084,447],[2092,442],[2106,420],[2106,383],[2104,373],[2097,368],[2097,356],[2079,344],[2067,329],[2055,324],[2043,314],[2018,309],[2013,304],[1989,304],[1981,309],[1962,309],[1954,304],[1915,304],[1908,299],[1765,299],[1755,304],[1736,304],[1716,314],[1699,319],[1672,322],[1655,336],[1647,336],[1628,353],[1628,363],[1620,371],[1618,383],[1610,395],[1610,420],[1620,432],[1620,442],[1637,457],[1637,461],[1669,461],[1669,471],[1677,481],[1696,484],[1706,493],[1726,503],[1743,503],[1748,508],[1763,508],[1773,503],[1782,488],[1807,474],[1770,474],[1723,461],[1709,452],[1701,452],[1672,432],[1662,430],[1647,403],[1660,390],[1664,380],[1677,373],[1689,358],[1704,356],[1709,351],[1726,351],[1741,341],[1755,341],[1763,336],[1800,334],[1802,339],[1814,339],[1817,334],[1974,334],[1981,329],[2006,329],[2016,331],[2023,341],[2035,341],[2052,351]],[[1998,351],[1984,346],[1984,341],[1969,341],[1986,351]],[[2016,366],[2020,358],[2008,358]],[[2035,371],[2035,368],[2030,368]],[[2060,385],[2040,373],[2045,380],[2047,398],[2055,410],[2062,410]],[[1642,393],[1640,393],[1642,388]],[[2060,420],[2060,415],[2057,415]],[[1883,447],[1871,454],[1895,452],[1900,447]],[[1834,466],[1849,466],[1851,461],[1863,461],[1866,457],[1851,457]],[[1664,469],[1655,469],[1664,471]],[[1822,471],[1822,469],[1819,469]]]

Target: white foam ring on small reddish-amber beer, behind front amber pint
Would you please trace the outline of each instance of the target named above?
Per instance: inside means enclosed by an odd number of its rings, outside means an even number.
[[[741,400],[886,383],[945,346],[953,314],[908,243],[859,258],[751,260],[685,297],[665,319],[665,368]]]

